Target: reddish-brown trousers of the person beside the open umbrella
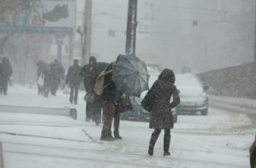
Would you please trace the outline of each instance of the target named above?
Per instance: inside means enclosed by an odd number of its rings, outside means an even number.
[[[110,136],[110,126],[115,115],[115,105],[111,102],[104,101],[103,111],[104,111],[103,112],[104,119],[103,119],[103,126],[101,130],[102,138]]]

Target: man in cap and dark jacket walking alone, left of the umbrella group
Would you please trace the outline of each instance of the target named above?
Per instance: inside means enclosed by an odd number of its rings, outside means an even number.
[[[74,65],[68,68],[66,76],[66,84],[69,84],[70,87],[69,101],[73,103],[74,100],[74,104],[77,104],[78,90],[81,82],[79,75],[81,67],[78,65],[78,62],[77,59],[74,59]]]

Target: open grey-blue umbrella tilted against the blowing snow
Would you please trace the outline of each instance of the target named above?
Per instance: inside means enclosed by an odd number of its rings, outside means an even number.
[[[144,61],[135,55],[118,55],[113,63],[112,79],[126,96],[138,96],[148,90],[149,74]]]

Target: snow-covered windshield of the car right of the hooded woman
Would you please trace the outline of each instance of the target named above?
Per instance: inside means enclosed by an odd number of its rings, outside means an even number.
[[[180,96],[199,96],[203,92],[199,80],[192,74],[176,74],[175,84],[180,90]]]

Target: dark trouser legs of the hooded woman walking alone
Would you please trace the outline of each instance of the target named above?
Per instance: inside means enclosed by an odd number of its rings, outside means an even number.
[[[150,148],[154,148],[160,133],[161,133],[161,129],[155,129],[153,131],[150,142],[149,142]],[[170,129],[164,129],[164,152],[166,153],[169,152],[169,148],[170,148]]]

